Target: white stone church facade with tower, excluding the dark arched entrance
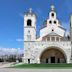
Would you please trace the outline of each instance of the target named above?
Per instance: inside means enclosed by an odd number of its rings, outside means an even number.
[[[29,20],[28,23],[27,20]],[[64,54],[66,63],[71,63],[71,41],[65,37],[65,29],[61,26],[56,17],[54,6],[51,7],[49,18],[45,24],[46,26],[40,30],[40,37],[36,38],[35,14],[32,12],[32,9],[30,9],[24,15],[23,62],[41,63],[40,57],[42,53],[50,48],[55,48]]]

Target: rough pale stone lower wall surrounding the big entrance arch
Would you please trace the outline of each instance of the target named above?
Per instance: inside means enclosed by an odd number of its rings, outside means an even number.
[[[24,63],[40,63],[40,56],[42,52],[47,49],[55,47],[61,50],[67,58],[67,63],[70,63],[71,58],[71,43],[68,42],[24,42]]]

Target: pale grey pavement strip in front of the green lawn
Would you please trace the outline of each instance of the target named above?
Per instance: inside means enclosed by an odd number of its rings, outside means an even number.
[[[15,69],[15,68],[1,68],[0,72],[72,72],[72,69]]]

